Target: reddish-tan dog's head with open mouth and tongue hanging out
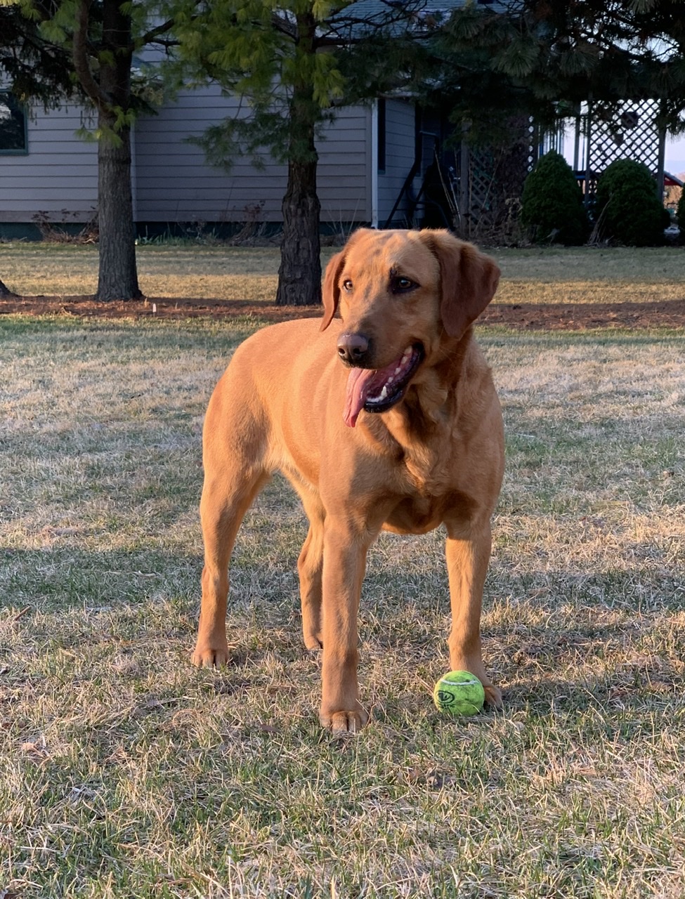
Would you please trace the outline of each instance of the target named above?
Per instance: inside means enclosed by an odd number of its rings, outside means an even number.
[[[360,228],[325,271],[323,331],[338,313],[352,372],[345,421],[385,412],[424,364],[458,341],[494,297],[500,270],[448,231]]]

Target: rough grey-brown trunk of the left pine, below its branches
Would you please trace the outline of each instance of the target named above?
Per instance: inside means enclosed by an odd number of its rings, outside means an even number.
[[[103,111],[100,118],[110,117]],[[107,122],[113,127],[113,119]],[[118,130],[118,141],[103,128],[98,145],[98,227],[100,269],[96,298],[138,299],[136,236],[131,198],[130,130]]]

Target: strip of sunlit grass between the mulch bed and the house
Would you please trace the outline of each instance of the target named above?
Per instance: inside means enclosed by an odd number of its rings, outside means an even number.
[[[325,264],[335,252],[325,249]],[[682,247],[488,250],[503,280],[495,303],[645,302],[682,298]],[[271,302],[280,251],[275,247],[138,246],[140,289],[149,297]],[[94,246],[0,244],[0,280],[27,296],[93,294]]]

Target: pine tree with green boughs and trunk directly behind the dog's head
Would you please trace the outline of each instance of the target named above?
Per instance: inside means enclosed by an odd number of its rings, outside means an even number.
[[[409,4],[377,4],[369,13],[349,2],[215,0],[204,9],[174,0],[183,75],[214,81],[248,102],[247,117],[213,126],[201,141],[215,165],[267,148],[288,165],[282,202],[280,305],[321,301],[316,136],[343,103],[377,95],[406,76],[414,58]]]

